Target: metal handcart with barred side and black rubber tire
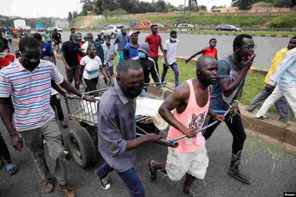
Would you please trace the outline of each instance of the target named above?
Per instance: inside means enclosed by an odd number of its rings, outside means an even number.
[[[162,88],[165,89],[166,82],[164,83],[151,83],[146,85],[157,85],[161,84]],[[86,92],[84,95],[95,93],[102,94],[108,88],[99,89],[92,92]],[[166,94],[164,93],[164,99]],[[146,99],[146,100],[145,100]],[[97,105],[100,102],[100,97],[95,97],[96,102],[88,102],[82,100],[80,97],[65,97],[65,102],[67,106],[67,111],[69,114],[69,119],[76,120],[79,122],[80,127],[73,128],[69,131],[68,143],[70,146],[70,151],[73,154],[73,158],[82,168],[86,168],[92,162],[96,162],[96,158],[99,155],[98,152],[98,134],[97,134]],[[154,102],[154,105],[147,104],[150,108],[155,108],[158,110],[159,106],[163,100],[149,98],[148,97],[138,97],[138,103],[151,103]],[[143,105],[142,105],[143,106]],[[145,112],[144,115],[136,114],[136,136],[141,136],[147,133],[160,133],[160,130],[153,123],[152,115],[147,115]],[[157,144],[162,144],[165,146],[176,147],[178,146],[177,142],[171,143],[165,139],[159,139]]]

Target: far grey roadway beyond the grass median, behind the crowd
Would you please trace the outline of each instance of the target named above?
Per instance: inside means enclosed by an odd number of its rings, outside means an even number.
[[[82,35],[85,35],[87,32],[81,32]],[[97,32],[92,32],[94,38],[97,38]],[[70,32],[61,32],[62,40],[69,40]],[[145,38],[149,33],[140,33],[139,34],[139,43],[144,43]],[[166,40],[170,38],[169,33],[160,33],[160,36],[163,40],[163,44]],[[233,40],[235,36],[225,36],[225,35],[194,35],[194,34],[181,34],[177,35],[179,40],[177,48],[177,56],[184,56],[186,58],[192,56],[192,54],[200,51],[202,48],[205,48],[209,45],[209,40],[211,38],[217,39],[217,51],[218,59],[229,55],[233,51]],[[253,62],[253,67],[259,69],[270,69],[271,60],[276,54],[277,51],[281,50],[287,46],[290,38],[265,38],[265,37],[254,37],[254,42],[257,45],[255,53],[257,57]],[[159,53],[161,51],[159,50]],[[198,57],[196,57],[198,58]],[[196,59],[195,58],[195,59]]]

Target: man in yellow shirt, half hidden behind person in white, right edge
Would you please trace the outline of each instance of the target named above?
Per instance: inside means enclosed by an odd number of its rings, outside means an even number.
[[[246,110],[248,112],[253,112],[253,110],[260,104],[262,103],[267,97],[269,97],[269,95],[271,95],[271,93],[274,91],[274,86],[268,88],[267,84],[269,84],[270,82],[270,76],[272,74],[274,74],[276,72],[276,70],[279,68],[279,66],[281,65],[281,62],[283,61],[286,53],[295,48],[296,47],[296,37],[293,37],[289,40],[289,43],[287,45],[287,47],[283,48],[282,50],[278,51],[276,53],[276,55],[274,56],[274,58],[271,61],[271,68],[268,71],[266,77],[265,77],[265,84],[263,86],[263,88],[261,89],[261,91],[258,93],[258,95],[252,100],[252,102],[246,106]],[[276,109],[279,111],[280,115],[279,115],[279,121],[282,121],[284,123],[290,124],[290,112],[289,112],[289,105],[287,103],[287,100],[285,97],[281,97],[279,100],[277,100],[275,103]],[[262,120],[270,120],[270,118],[268,118],[265,115],[262,116],[256,116],[255,118],[259,118]]]

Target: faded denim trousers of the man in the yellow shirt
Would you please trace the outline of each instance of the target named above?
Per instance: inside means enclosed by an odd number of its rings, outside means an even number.
[[[246,109],[253,111],[261,102],[267,99],[273,91],[274,88],[268,89],[266,84],[264,84],[258,95],[250,102]],[[279,111],[279,120],[290,120],[289,105],[285,97],[280,97],[279,100],[274,102],[274,105],[276,106],[276,110]]]

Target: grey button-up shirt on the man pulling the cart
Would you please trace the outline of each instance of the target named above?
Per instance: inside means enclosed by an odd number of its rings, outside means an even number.
[[[136,138],[136,99],[128,99],[117,81],[101,97],[98,105],[99,151],[117,172],[131,169],[136,150],[126,151],[126,140]]]

